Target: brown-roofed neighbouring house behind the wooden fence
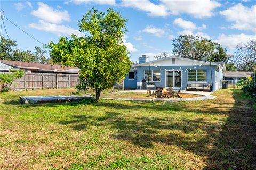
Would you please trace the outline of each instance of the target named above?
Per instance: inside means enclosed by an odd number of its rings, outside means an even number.
[[[12,60],[0,60],[1,64],[25,70],[29,73],[57,73],[57,74],[78,74],[79,69],[77,67],[62,67],[58,64],[47,64],[47,63],[30,63],[20,62]]]

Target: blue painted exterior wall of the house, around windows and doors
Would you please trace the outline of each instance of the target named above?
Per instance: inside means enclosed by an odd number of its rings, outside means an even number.
[[[204,66],[161,66],[161,82],[153,82],[156,84],[156,87],[164,87],[165,86],[165,69],[166,70],[183,70],[182,71],[182,90],[185,90],[186,89],[186,86],[187,86],[187,71],[186,69],[192,69],[192,70],[195,70],[196,67],[198,70],[206,70],[206,84],[212,84],[212,81],[211,81],[211,68],[210,66],[207,66],[207,65],[204,65]],[[128,77],[126,76],[126,79],[125,79],[125,88],[127,87],[134,87],[136,88],[137,87],[137,81],[142,81],[144,79],[144,70],[149,70],[149,67],[148,66],[143,66],[143,67],[138,67],[137,68],[137,80],[128,80]],[[159,68],[156,68],[156,67],[150,67],[150,70],[160,70]],[[215,70],[217,70],[217,66],[212,66],[212,80],[213,80],[213,90],[215,91]],[[185,72],[186,71],[186,72]],[[219,77],[219,79],[221,79],[221,77]],[[219,80],[220,81],[220,80]],[[198,82],[200,83],[200,82]]]

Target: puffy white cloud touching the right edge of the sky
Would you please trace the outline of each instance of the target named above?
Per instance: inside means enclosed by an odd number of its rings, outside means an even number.
[[[231,24],[231,29],[249,30],[256,32],[256,5],[251,8],[243,6],[239,3],[227,10],[220,11],[227,21],[234,22]]]

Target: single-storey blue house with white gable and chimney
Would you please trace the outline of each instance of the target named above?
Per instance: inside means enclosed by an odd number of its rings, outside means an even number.
[[[210,63],[183,57],[166,57],[146,62],[142,55],[139,64],[133,65],[124,80],[124,88],[172,87],[188,90],[195,87],[212,87],[213,91],[221,88],[225,63]],[[210,91],[210,90],[209,90]]]

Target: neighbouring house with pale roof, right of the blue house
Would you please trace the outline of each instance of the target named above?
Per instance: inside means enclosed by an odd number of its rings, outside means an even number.
[[[236,84],[240,79],[247,80],[253,72],[249,71],[227,71],[223,73],[223,80],[228,81],[229,84]]]

